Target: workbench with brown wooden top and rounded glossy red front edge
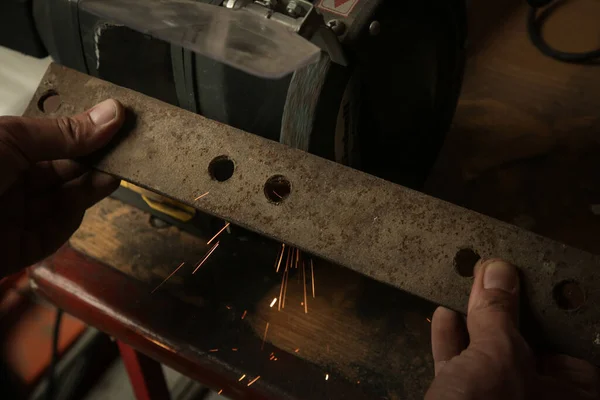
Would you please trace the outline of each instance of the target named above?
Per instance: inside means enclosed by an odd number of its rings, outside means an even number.
[[[522,1],[476,1],[470,13],[463,95],[425,191],[600,253],[600,66],[539,54]],[[566,4],[546,37],[598,47],[598,15],[598,2]],[[106,199],[31,276],[67,312],[229,397],[422,397],[435,305],[315,259],[308,312],[300,270],[280,311],[270,307],[280,244],[234,233],[192,275],[207,237],[155,227],[149,214]]]

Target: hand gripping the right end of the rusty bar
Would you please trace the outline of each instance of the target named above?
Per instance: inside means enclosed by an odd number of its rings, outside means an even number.
[[[599,399],[598,369],[568,356],[536,359],[519,333],[519,278],[501,260],[479,262],[466,326],[440,307],[431,342],[435,379],[432,399]]]

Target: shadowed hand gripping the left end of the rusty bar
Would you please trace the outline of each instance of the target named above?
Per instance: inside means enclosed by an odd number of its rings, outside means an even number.
[[[106,145],[124,118],[115,100],[74,117],[0,117],[0,278],[56,251],[118,187],[72,159]]]

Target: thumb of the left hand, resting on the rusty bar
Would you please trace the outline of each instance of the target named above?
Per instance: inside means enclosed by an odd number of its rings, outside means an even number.
[[[0,151],[21,170],[39,161],[81,157],[106,145],[124,119],[123,106],[112,99],[73,117],[6,117],[0,120]]]

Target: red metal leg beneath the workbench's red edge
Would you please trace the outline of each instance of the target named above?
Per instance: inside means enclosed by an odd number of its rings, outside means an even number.
[[[121,341],[117,343],[135,398],[169,400],[171,396],[160,363]]]

